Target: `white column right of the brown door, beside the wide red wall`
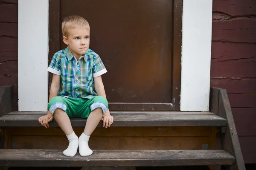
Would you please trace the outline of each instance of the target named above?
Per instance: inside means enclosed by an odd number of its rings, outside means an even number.
[[[181,111],[209,111],[212,0],[183,0]]]

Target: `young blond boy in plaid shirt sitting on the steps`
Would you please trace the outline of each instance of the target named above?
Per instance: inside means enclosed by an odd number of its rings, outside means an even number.
[[[107,70],[99,55],[89,49],[90,26],[87,20],[79,16],[64,18],[62,34],[67,48],[54,54],[47,69],[53,73],[48,113],[38,121],[47,128],[54,116],[69,141],[63,152],[65,156],[75,156],[78,147],[81,156],[89,156],[93,153],[88,146],[93,130],[101,120],[106,128],[113,123],[101,78]],[[75,117],[87,118],[79,138],[70,123],[70,118]]]

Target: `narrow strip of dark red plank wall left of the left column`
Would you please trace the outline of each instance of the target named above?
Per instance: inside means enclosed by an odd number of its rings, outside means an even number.
[[[18,103],[18,0],[0,0],[0,86],[14,85]]]

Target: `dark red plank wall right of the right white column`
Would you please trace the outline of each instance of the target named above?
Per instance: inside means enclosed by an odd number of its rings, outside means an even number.
[[[256,163],[256,0],[213,0],[211,87],[227,89],[245,163]]]

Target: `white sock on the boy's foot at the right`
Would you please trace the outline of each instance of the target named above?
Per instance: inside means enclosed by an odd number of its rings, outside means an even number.
[[[81,156],[89,156],[93,153],[93,151],[88,146],[90,136],[82,133],[79,137],[79,153]]]

